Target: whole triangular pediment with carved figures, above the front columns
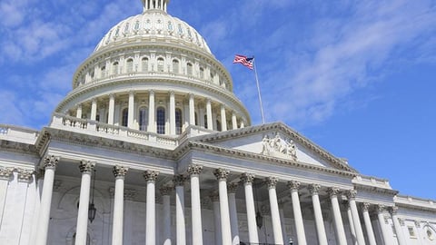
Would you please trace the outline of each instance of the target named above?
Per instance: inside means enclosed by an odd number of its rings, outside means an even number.
[[[334,157],[330,152],[323,150],[282,122],[216,132],[194,137],[191,140],[291,162],[342,171],[355,171],[347,162]]]

